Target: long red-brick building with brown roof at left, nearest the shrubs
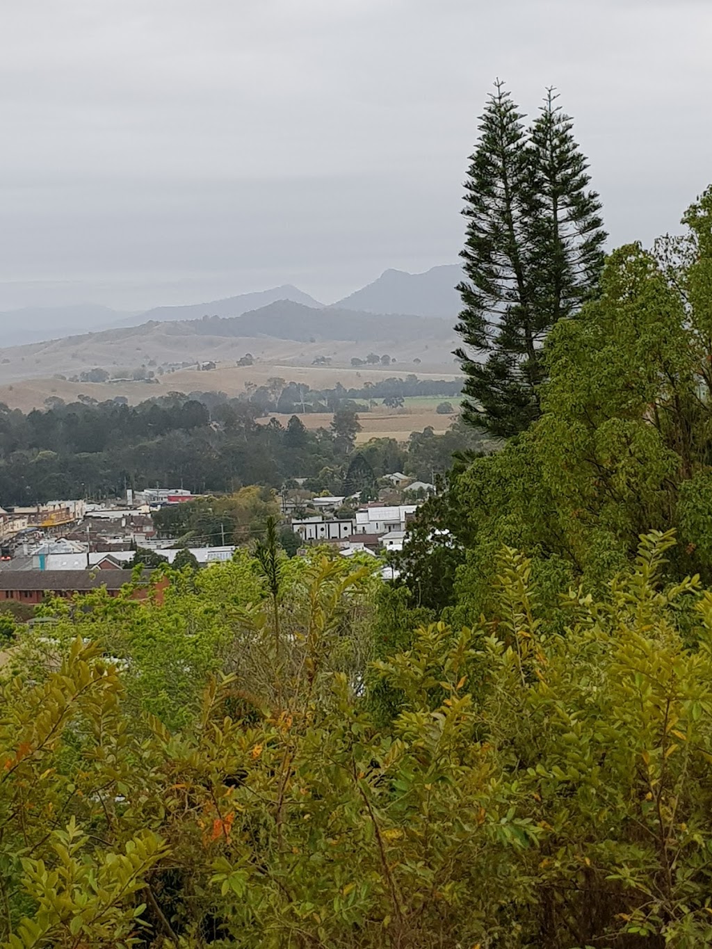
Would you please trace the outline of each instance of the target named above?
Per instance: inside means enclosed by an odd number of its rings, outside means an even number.
[[[148,581],[152,570],[144,570],[141,579]],[[89,593],[105,587],[110,596],[118,596],[128,581],[124,570],[2,570],[0,571],[0,603],[13,600],[34,605],[47,596],[72,597],[75,593]],[[162,578],[159,586],[167,585]],[[147,587],[135,591],[138,599],[147,595]]]

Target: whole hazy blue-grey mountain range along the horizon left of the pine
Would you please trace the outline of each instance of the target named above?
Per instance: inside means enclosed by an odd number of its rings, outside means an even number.
[[[461,270],[457,264],[433,267],[423,273],[384,270],[377,280],[329,305],[315,300],[309,293],[291,284],[285,284],[207,303],[154,307],[134,313],[120,312],[97,304],[25,307],[0,312],[0,341],[6,346],[22,345],[110,328],[141,326],[148,322],[190,321],[206,316],[234,318],[278,301],[290,301],[311,310],[437,317],[447,319],[452,326],[459,312],[459,296],[455,286],[460,279]],[[286,319],[286,313],[283,310],[280,319]],[[299,318],[296,310],[291,315],[294,319]],[[261,332],[264,333],[265,329]],[[368,334],[362,333],[359,338],[368,338]]]

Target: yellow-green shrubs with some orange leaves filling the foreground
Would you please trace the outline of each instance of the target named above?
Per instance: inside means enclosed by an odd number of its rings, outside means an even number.
[[[162,603],[58,604],[0,683],[2,944],[707,944],[712,594],[661,586],[672,543],[562,591],[564,635],[513,549],[461,629],[386,590],[374,627],[369,568],[269,538]]]

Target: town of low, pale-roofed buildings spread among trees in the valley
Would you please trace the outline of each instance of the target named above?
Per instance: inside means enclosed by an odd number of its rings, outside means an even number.
[[[408,525],[435,485],[393,472],[381,479],[380,499],[362,502],[360,493],[315,495],[303,490],[300,480],[306,479],[295,478],[294,489],[274,493],[283,528],[293,532],[292,552],[324,545],[343,557],[362,554],[373,558],[385,580],[396,579],[387,554],[403,550]],[[224,528],[222,543],[215,546],[177,546],[157,528],[155,515],[163,509],[205,498],[184,488],[150,488],[128,490],[123,504],[80,499],[0,507],[0,606],[37,605],[47,597],[73,597],[102,586],[116,594],[128,581],[116,571],[140,564],[141,557],[149,567],[160,561],[172,565],[186,550],[200,568],[230,560],[238,545],[230,543]]]

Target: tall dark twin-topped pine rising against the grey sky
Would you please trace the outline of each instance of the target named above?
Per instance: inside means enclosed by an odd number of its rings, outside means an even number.
[[[495,87],[465,182],[465,345],[456,355],[467,376],[464,418],[510,437],[538,418],[544,339],[595,288],[606,233],[553,90],[525,129],[510,93]]]

